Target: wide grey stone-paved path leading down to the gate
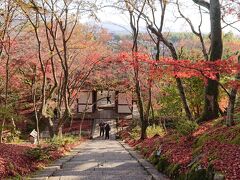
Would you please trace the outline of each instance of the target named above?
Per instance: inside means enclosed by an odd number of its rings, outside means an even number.
[[[115,140],[114,121],[111,123],[110,140],[98,136],[95,122],[95,138],[86,142],[78,153],[56,170],[50,180],[147,180],[152,176]],[[98,136],[98,137],[96,137]]]

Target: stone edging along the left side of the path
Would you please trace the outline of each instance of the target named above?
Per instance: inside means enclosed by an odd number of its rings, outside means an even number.
[[[48,166],[44,167],[44,169],[37,171],[35,174],[33,174],[31,177],[27,177],[26,179],[29,180],[47,180],[50,176],[54,174],[55,171],[62,168],[63,164],[70,161],[74,156],[76,156],[79,153],[79,148],[84,146],[86,142],[82,142],[78,146],[71,149],[67,155],[63,156],[62,158],[54,161],[52,164],[49,164]]]

